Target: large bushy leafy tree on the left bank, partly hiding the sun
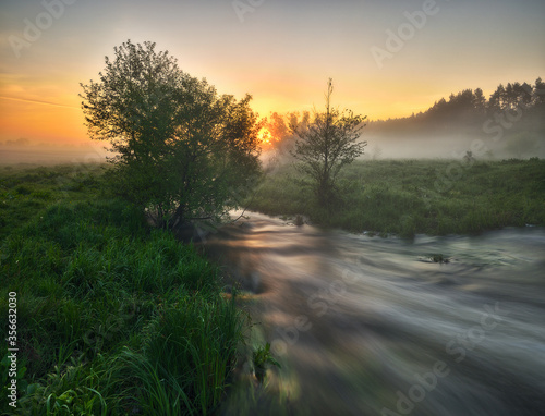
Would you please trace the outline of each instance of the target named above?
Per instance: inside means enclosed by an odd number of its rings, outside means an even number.
[[[119,193],[171,228],[237,207],[233,189],[244,194],[259,172],[251,96],[218,96],[153,42],[128,40],[114,54],[81,97],[90,137],[116,154]]]

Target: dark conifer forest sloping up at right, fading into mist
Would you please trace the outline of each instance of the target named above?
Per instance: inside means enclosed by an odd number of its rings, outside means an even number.
[[[407,118],[371,121],[371,135],[487,139],[494,156],[545,156],[545,83],[500,84],[488,99],[481,88],[441,98],[428,110]],[[493,151],[489,151],[488,156]]]

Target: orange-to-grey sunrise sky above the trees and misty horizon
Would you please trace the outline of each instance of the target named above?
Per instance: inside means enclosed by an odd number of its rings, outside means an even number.
[[[0,0],[0,144],[88,144],[80,83],[128,39],[262,117],[322,109],[329,77],[371,120],[545,77],[543,0]]]

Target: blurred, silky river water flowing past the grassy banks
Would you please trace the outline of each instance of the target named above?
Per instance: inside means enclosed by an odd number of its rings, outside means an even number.
[[[205,246],[281,364],[220,414],[545,415],[543,229],[409,242],[251,213]]]

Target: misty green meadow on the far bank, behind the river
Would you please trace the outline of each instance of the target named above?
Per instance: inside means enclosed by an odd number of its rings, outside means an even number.
[[[302,180],[291,164],[272,170],[250,209],[404,237],[545,225],[545,160],[356,161],[340,173],[331,212],[317,208]]]

